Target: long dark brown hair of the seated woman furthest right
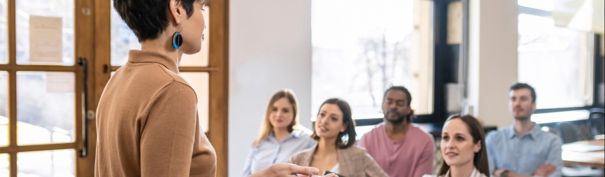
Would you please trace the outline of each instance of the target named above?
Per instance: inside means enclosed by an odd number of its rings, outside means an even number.
[[[471,136],[473,137],[473,143],[477,144],[477,142],[481,141],[481,149],[479,152],[475,153],[473,164],[477,170],[479,170],[479,172],[489,177],[488,153],[485,148],[485,132],[483,132],[483,126],[481,126],[481,123],[479,123],[475,117],[468,114],[464,116],[460,116],[459,114],[450,116],[450,118],[445,120],[445,122],[448,122],[452,119],[460,119],[462,122],[466,123],[466,126],[468,126]],[[441,163],[441,168],[439,169],[439,173],[437,173],[437,175],[445,175],[448,170],[450,170],[450,166],[448,166],[444,160]]]

